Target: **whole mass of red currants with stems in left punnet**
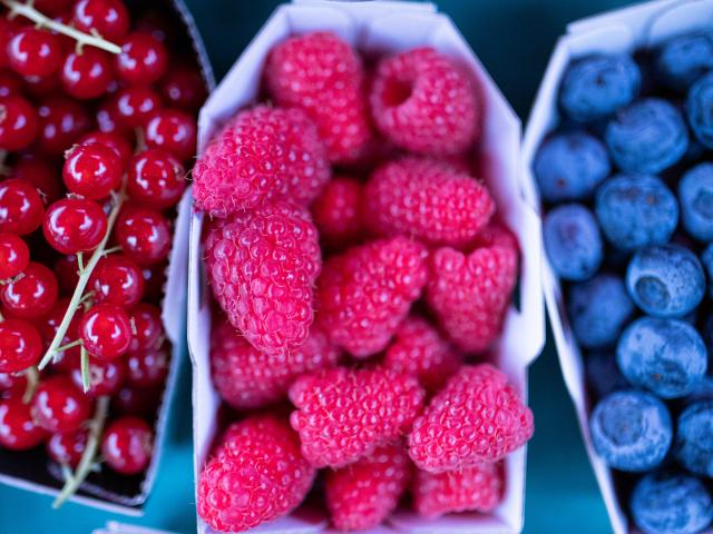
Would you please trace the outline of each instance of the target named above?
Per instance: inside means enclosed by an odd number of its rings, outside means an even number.
[[[77,469],[66,497],[99,449],[121,474],[150,459],[163,274],[205,85],[156,12],[0,4],[0,447],[45,443]]]

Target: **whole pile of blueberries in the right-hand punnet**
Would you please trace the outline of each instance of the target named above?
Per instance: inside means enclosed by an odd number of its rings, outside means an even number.
[[[579,58],[559,109],[534,171],[592,441],[642,532],[697,533],[713,522],[713,32]]]

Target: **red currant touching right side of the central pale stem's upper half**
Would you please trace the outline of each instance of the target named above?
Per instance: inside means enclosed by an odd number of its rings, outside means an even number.
[[[154,209],[124,207],[115,235],[124,254],[141,267],[164,260],[170,251],[168,220]]]

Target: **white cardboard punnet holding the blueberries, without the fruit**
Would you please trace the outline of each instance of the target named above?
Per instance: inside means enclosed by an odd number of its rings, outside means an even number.
[[[567,65],[589,53],[633,52],[655,47],[675,34],[713,27],[713,0],[658,0],[573,22],[555,47],[539,87],[522,142],[524,172],[534,189],[533,161],[543,139],[559,122],[557,92]],[[535,191],[535,198],[537,198]],[[539,209],[539,202],[535,205]],[[569,327],[561,287],[543,254],[543,279],[547,310],[563,376],[575,405],[585,447],[616,534],[634,532],[626,505],[616,494],[611,469],[592,446],[588,417],[592,399],[587,393],[584,362]]]

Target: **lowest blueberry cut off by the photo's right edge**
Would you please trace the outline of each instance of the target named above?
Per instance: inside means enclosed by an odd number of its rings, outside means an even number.
[[[676,426],[678,463],[692,473],[713,477],[713,400],[688,406]]]

